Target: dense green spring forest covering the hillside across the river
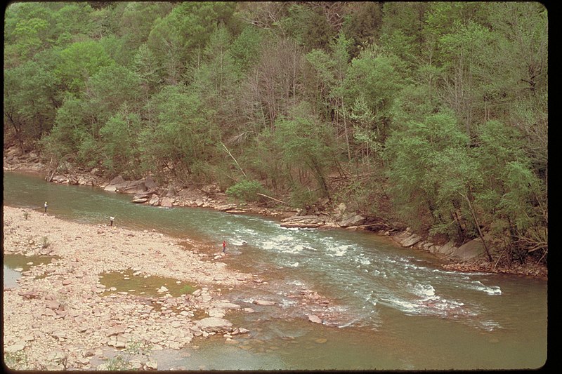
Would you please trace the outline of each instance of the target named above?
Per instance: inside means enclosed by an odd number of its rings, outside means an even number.
[[[536,2],[15,2],[4,147],[547,262]]]

